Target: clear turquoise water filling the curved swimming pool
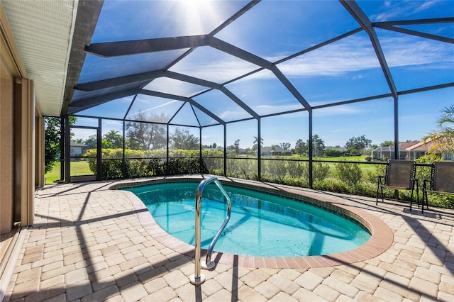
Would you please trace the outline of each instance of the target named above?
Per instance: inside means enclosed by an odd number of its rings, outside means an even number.
[[[195,193],[198,183],[152,184],[127,189],[147,206],[170,235],[194,245]],[[234,255],[296,257],[353,250],[370,233],[352,221],[321,208],[258,191],[224,186],[231,219],[215,251]],[[208,248],[226,218],[227,204],[214,184],[201,201],[201,247]]]

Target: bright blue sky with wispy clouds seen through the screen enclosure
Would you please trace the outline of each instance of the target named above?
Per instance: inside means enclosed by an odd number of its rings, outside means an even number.
[[[105,1],[92,43],[119,40],[204,35],[219,26],[248,1]],[[372,22],[403,21],[417,18],[453,18],[454,1],[358,1]],[[260,118],[265,146],[299,139],[308,140],[307,111],[304,102],[322,106],[352,99],[389,94],[389,85],[380,62],[364,31],[302,53],[323,41],[358,28],[358,23],[338,1],[261,1],[236,21],[214,35],[230,45],[241,47],[267,62],[275,63],[298,94],[287,89],[269,69],[226,84],[228,94],[238,98]],[[454,23],[399,26],[407,30],[454,39]],[[375,28],[382,52],[397,91],[454,82],[454,45],[436,39],[406,35]],[[92,82],[167,66],[184,50],[153,52],[127,57],[104,58],[87,55],[79,83]],[[215,47],[197,47],[170,67],[171,72],[187,74],[216,84],[224,84],[260,66],[229,55]],[[223,121],[252,118],[226,91],[189,84],[170,77],[159,77],[144,89],[191,98]],[[206,91],[200,94],[202,91]],[[80,95],[82,96],[82,94]],[[76,94],[79,97],[79,94]],[[207,126],[202,144],[223,145],[223,126],[198,108],[175,99],[139,95],[130,110],[133,96],[82,111],[80,114],[134,118],[145,112],[150,118],[164,116],[175,124]],[[454,104],[454,88],[448,87],[417,94],[402,94],[397,101],[399,140],[421,140],[437,128],[443,108]],[[312,133],[326,146],[344,146],[350,138],[365,135],[373,144],[394,140],[394,99],[317,108],[313,111]],[[126,114],[126,112],[128,113]],[[175,114],[177,113],[177,114]],[[152,117],[153,116],[153,117]],[[171,119],[171,120],[170,120]],[[79,119],[79,125],[91,125]],[[96,125],[96,123],[94,123]],[[258,136],[255,119],[227,124],[227,145],[240,140],[240,147],[252,147]],[[105,120],[102,132],[122,132],[121,123]],[[187,128],[199,136],[199,128]],[[87,131],[85,131],[87,132]],[[81,138],[87,133],[80,130]]]

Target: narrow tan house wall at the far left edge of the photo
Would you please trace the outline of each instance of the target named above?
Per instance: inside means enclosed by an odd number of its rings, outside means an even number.
[[[13,225],[13,78],[0,68],[0,233]]]

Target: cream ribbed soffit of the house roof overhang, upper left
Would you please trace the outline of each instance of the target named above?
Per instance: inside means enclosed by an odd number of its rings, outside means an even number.
[[[45,116],[60,116],[77,1],[2,1],[35,99]]]

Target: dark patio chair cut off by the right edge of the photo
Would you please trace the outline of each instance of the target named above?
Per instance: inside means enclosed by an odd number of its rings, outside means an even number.
[[[428,193],[454,195],[454,162],[434,162],[431,169],[431,179],[423,179],[423,211],[424,200],[428,209]],[[418,202],[419,206],[419,202]],[[411,206],[410,206],[411,209]]]

